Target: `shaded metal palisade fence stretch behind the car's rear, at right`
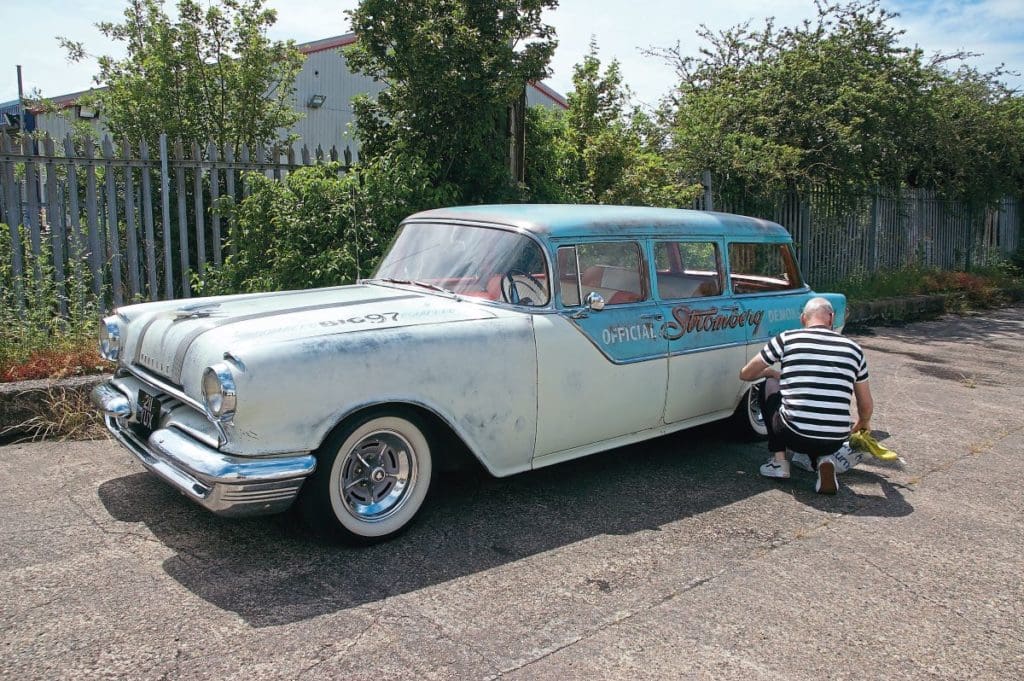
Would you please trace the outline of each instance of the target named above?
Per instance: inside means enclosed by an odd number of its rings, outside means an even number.
[[[970,269],[1021,246],[1021,200],[972,206],[928,189],[840,196],[791,191],[774,200],[726,199],[716,207],[778,222],[793,235],[801,269],[816,287],[911,264]]]

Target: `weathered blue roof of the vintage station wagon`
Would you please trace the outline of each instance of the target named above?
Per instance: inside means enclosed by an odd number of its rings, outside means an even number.
[[[678,208],[506,204],[438,208],[416,213],[413,221],[472,221],[500,224],[548,239],[578,237],[725,236],[788,240],[781,225],[756,217]]]

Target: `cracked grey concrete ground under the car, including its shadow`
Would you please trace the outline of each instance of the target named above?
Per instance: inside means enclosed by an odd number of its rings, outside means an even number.
[[[1024,678],[1022,311],[858,336],[904,462],[835,498],[709,427],[447,479],[352,549],[111,441],[0,448],[0,677]]]

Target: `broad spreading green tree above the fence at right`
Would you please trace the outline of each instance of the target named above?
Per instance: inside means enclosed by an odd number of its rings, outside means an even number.
[[[678,45],[655,51],[680,79],[670,100],[673,164],[710,169],[737,193],[814,183],[994,189],[983,169],[1006,173],[1019,158],[1017,104],[999,74],[950,73],[966,54],[928,60],[904,47],[878,0],[818,0],[817,9],[793,28],[701,28],[698,56]]]

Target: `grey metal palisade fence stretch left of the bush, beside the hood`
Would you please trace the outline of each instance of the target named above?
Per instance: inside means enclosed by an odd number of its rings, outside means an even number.
[[[57,148],[46,136],[0,134],[0,221],[9,227],[11,270],[22,280],[28,250],[37,284],[45,249],[47,263],[67,311],[69,275],[85,282],[98,300],[121,305],[126,300],[187,298],[191,274],[223,262],[224,244],[233,228],[222,216],[225,199],[248,194],[245,171],[282,179],[295,168],[343,157],[331,147],[275,146],[250,150],[243,144],[217,148],[212,142],[145,142],[137,148],[115,145],[109,136],[76,145],[69,135]],[[44,241],[45,240],[45,241]],[[18,291],[19,304],[24,297]]]

